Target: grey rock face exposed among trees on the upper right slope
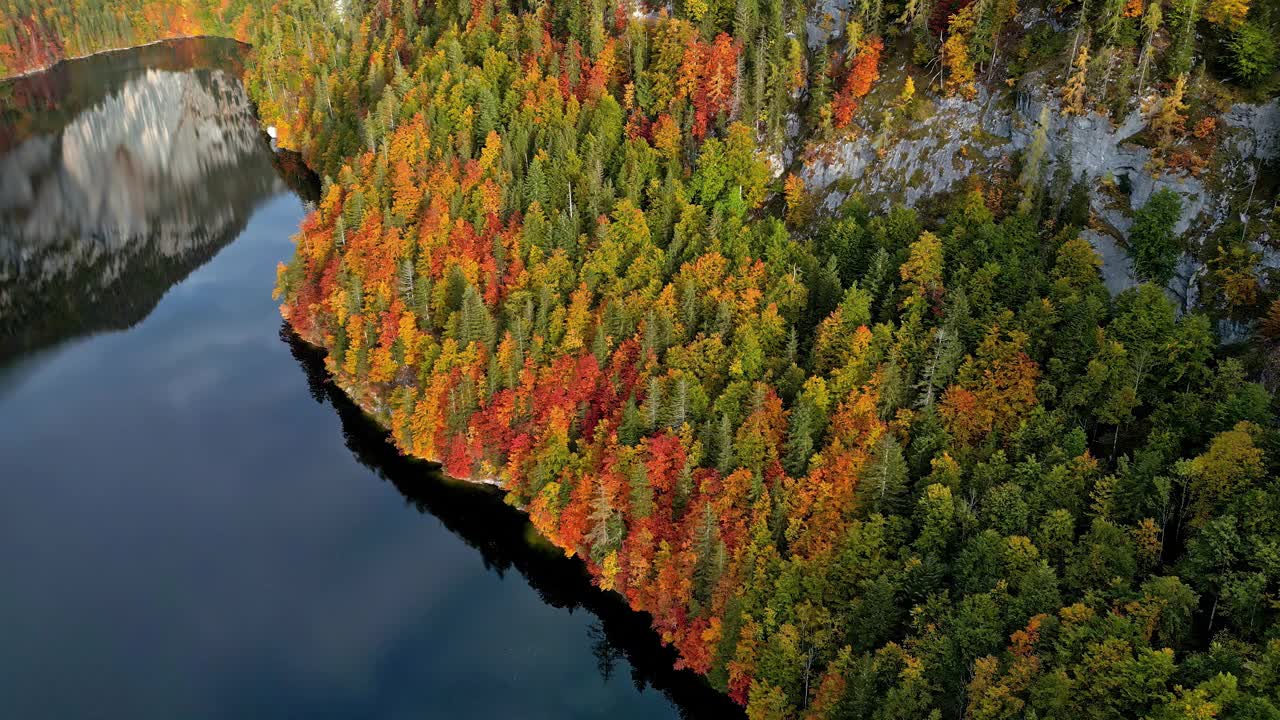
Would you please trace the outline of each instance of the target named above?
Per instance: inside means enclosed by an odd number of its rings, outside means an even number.
[[[850,193],[860,193],[873,206],[888,208],[952,190],[972,174],[1007,167],[1010,158],[1030,146],[1041,110],[1048,105],[1047,160],[1044,178],[1068,163],[1070,176],[1087,174],[1091,208],[1107,232],[1089,231],[1085,237],[1103,259],[1103,278],[1111,292],[1135,284],[1132,264],[1123,246],[1133,211],[1153,192],[1169,188],[1179,195],[1183,215],[1176,229],[1189,233],[1194,245],[1222,222],[1258,177],[1263,161],[1280,154],[1280,101],[1266,105],[1235,105],[1224,117],[1213,168],[1201,178],[1183,172],[1153,169],[1151,150],[1135,142],[1147,119],[1134,110],[1119,123],[1105,115],[1064,115],[1056,97],[1043,94],[988,96],[969,101],[948,97],[937,101],[936,111],[904,133],[876,140],[861,133],[809,151],[801,177],[806,186],[828,193],[827,208],[838,206]],[[1009,109],[1011,108],[1011,109]],[[882,147],[877,147],[883,142]],[[1128,195],[1097,191],[1101,181],[1128,187]],[[832,192],[837,181],[847,192]],[[1208,182],[1206,182],[1208,181]],[[831,197],[829,195],[835,195]],[[1117,197],[1119,196],[1119,197]],[[1263,264],[1277,268],[1274,247],[1262,247]],[[1193,286],[1203,266],[1184,258],[1170,292],[1184,306],[1194,302]]]

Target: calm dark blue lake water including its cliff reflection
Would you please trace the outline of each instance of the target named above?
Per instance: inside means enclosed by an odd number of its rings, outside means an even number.
[[[740,715],[282,332],[241,53],[0,85],[0,717]]]

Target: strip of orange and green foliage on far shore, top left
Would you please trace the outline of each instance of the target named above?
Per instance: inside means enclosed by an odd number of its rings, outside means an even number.
[[[259,0],[5,0],[0,78],[170,37],[247,40]]]

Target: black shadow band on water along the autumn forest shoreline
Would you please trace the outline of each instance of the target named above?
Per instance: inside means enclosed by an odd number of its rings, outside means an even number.
[[[329,382],[321,351],[301,341],[288,325],[280,328],[280,338],[302,366],[315,401],[338,411],[347,447],[361,465],[392,483],[419,512],[434,515],[477,550],[485,566],[499,577],[515,569],[547,605],[571,612],[582,609],[595,616],[590,634],[602,675],[611,676],[618,661],[626,660],[636,689],[660,691],[682,717],[744,717],[739,706],[701,676],[675,670],[676,652],[662,646],[649,615],[593,585],[582,564],[538,538],[524,512],[503,502],[500,491],[452,480],[439,466],[401,455],[387,432]]]

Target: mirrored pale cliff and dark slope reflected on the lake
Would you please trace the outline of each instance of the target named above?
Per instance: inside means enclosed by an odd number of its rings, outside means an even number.
[[[61,109],[64,124],[0,156],[0,366],[132,327],[287,190],[228,70],[111,68],[102,81],[109,92],[96,102],[70,117]],[[10,85],[24,82],[42,79]]]

